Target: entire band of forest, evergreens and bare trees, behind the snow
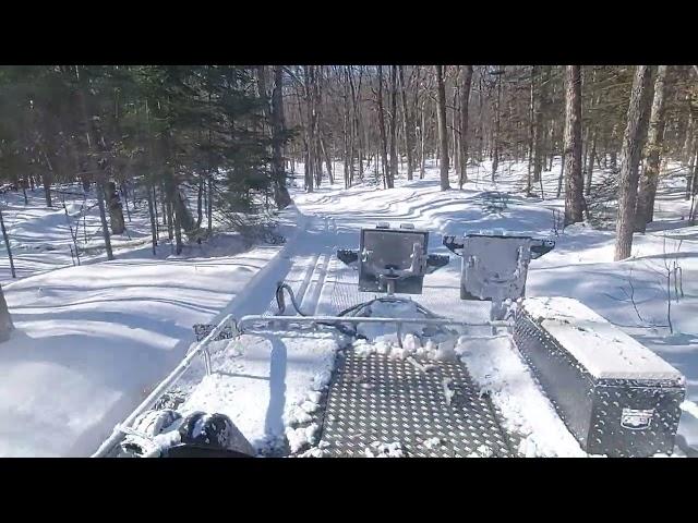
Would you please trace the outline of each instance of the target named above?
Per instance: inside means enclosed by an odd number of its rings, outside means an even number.
[[[697,138],[695,65],[0,68],[0,181],[44,187],[47,206],[56,183],[95,186],[110,258],[129,191],[147,199],[154,248],[160,220],[180,252],[182,235],[212,232],[214,209],[234,227],[287,206],[297,171],[309,192],[389,190],[435,159],[443,190],[456,190],[449,169],[462,188],[483,160],[493,181],[502,162],[528,162],[521,191],[564,197],[565,224],[612,195],[623,259],[653,219],[666,160],[683,163],[695,200]]]

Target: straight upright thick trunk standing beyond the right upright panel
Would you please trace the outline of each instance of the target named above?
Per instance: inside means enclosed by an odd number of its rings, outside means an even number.
[[[586,207],[581,178],[581,66],[567,65],[565,85],[565,226],[583,220]]]

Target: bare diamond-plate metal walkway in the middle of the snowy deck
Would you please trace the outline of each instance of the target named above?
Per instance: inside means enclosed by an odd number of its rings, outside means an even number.
[[[405,457],[508,457],[506,434],[489,398],[460,362],[408,361],[348,349],[330,382],[320,445],[327,457],[364,457],[372,443],[401,443]],[[444,380],[453,391],[447,401]]]

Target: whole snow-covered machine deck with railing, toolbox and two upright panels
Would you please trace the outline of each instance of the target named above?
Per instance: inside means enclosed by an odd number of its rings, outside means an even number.
[[[449,260],[429,254],[426,231],[378,224],[359,250],[292,269],[265,314],[197,326],[198,344],[95,455],[230,441],[294,457],[672,452],[683,376],[574,300],[525,299],[530,262],[554,242],[476,233],[443,244],[462,258],[459,296],[447,276],[424,284]],[[593,325],[561,323],[564,306]],[[590,337],[623,346],[611,354]],[[183,403],[163,403],[185,372]],[[153,414],[156,402],[169,410]]]

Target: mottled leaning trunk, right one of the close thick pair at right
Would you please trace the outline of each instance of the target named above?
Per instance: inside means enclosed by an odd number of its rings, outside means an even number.
[[[645,232],[647,223],[654,218],[654,196],[659,181],[659,167],[661,161],[662,145],[664,143],[664,86],[666,78],[666,65],[657,68],[654,80],[654,97],[648,131],[645,172],[640,180],[635,210],[635,231]]]

